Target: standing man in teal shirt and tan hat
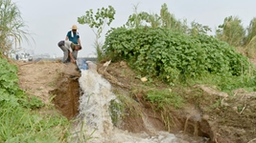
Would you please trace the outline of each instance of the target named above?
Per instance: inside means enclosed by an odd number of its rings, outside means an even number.
[[[79,44],[81,45],[81,40],[80,40],[80,35],[78,30],[78,27],[76,25],[72,26],[72,31],[68,31],[65,40],[69,40],[73,42],[74,44]],[[74,55],[78,56],[78,51],[74,51]]]

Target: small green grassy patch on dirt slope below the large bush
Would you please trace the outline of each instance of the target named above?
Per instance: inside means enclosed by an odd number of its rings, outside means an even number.
[[[161,109],[164,106],[173,106],[175,108],[181,108],[184,103],[182,96],[168,89],[162,91],[150,91],[148,92],[147,99],[151,103],[157,103],[157,109]]]

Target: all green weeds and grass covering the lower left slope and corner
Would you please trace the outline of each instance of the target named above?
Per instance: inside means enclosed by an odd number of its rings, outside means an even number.
[[[60,142],[68,121],[31,112],[44,104],[18,87],[17,68],[0,58],[0,142]]]

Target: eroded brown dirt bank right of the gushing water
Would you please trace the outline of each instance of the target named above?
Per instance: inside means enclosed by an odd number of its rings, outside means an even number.
[[[147,82],[142,82],[132,72],[126,62],[111,63],[107,68],[98,64],[98,72],[112,84],[113,90],[133,98],[131,108],[141,111],[151,125],[158,130],[171,133],[203,136],[208,142],[247,143],[256,137],[256,92],[245,92],[242,89],[233,91],[233,95],[220,92],[216,87],[196,85],[194,87],[174,88],[173,91],[186,99],[182,109],[169,108],[155,111],[147,99]],[[171,88],[162,83],[154,84],[155,89]],[[132,112],[129,112],[131,114]],[[141,115],[126,116],[124,128],[130,132],[148,132]],[[255,141],[256,142],[256,141]]]

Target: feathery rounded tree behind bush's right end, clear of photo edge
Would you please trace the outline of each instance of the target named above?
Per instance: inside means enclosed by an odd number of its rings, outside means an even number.
[[[228,44],[238,47],[244,45],[245,31],[242,20],[237,16],[229,16],[224,19],[222,25],[216,31],[216,37]]]

